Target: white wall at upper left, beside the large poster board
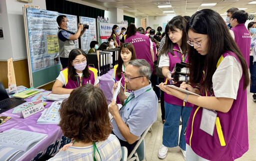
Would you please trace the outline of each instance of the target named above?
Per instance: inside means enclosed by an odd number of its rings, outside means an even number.
[[[0,27],[2,25],[4,31],[4,40],[0,40],[0,60],[6,60],[10,57],[14,61],[27,58],[22,12],[24,4],[46,9],[45,0],[33,0],[32,3],[0,0]]]

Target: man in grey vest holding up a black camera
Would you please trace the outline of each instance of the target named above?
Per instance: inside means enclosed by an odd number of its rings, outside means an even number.
[[[75,48],[75,41],[84,33],[86,28],[83,24],[78,24],[76,33],[67,30],[68,19],[65,15],[59,15],[56,19],[58,23],[58,46],[59,46],[59,57],[62,68],[67,67],[69,52]]]

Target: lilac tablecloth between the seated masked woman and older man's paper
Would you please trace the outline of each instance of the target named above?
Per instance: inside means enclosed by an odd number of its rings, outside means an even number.
[[[113,78],[111,78],[114,69],[109,70],[106,74],[98,77],[99,79],[99,88],[103,91],[107,104],[110,104],[113,98]]]

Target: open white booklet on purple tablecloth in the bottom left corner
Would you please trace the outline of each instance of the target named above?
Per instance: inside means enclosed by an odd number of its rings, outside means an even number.
[[[17,160],[46,137],[46,134],[18,129],[0,133],[0,161]]]

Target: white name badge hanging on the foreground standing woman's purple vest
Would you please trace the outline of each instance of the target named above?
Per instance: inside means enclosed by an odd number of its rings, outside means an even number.
[[[214,110],[202,109],[200,129],[213,136],[217,112]]]

